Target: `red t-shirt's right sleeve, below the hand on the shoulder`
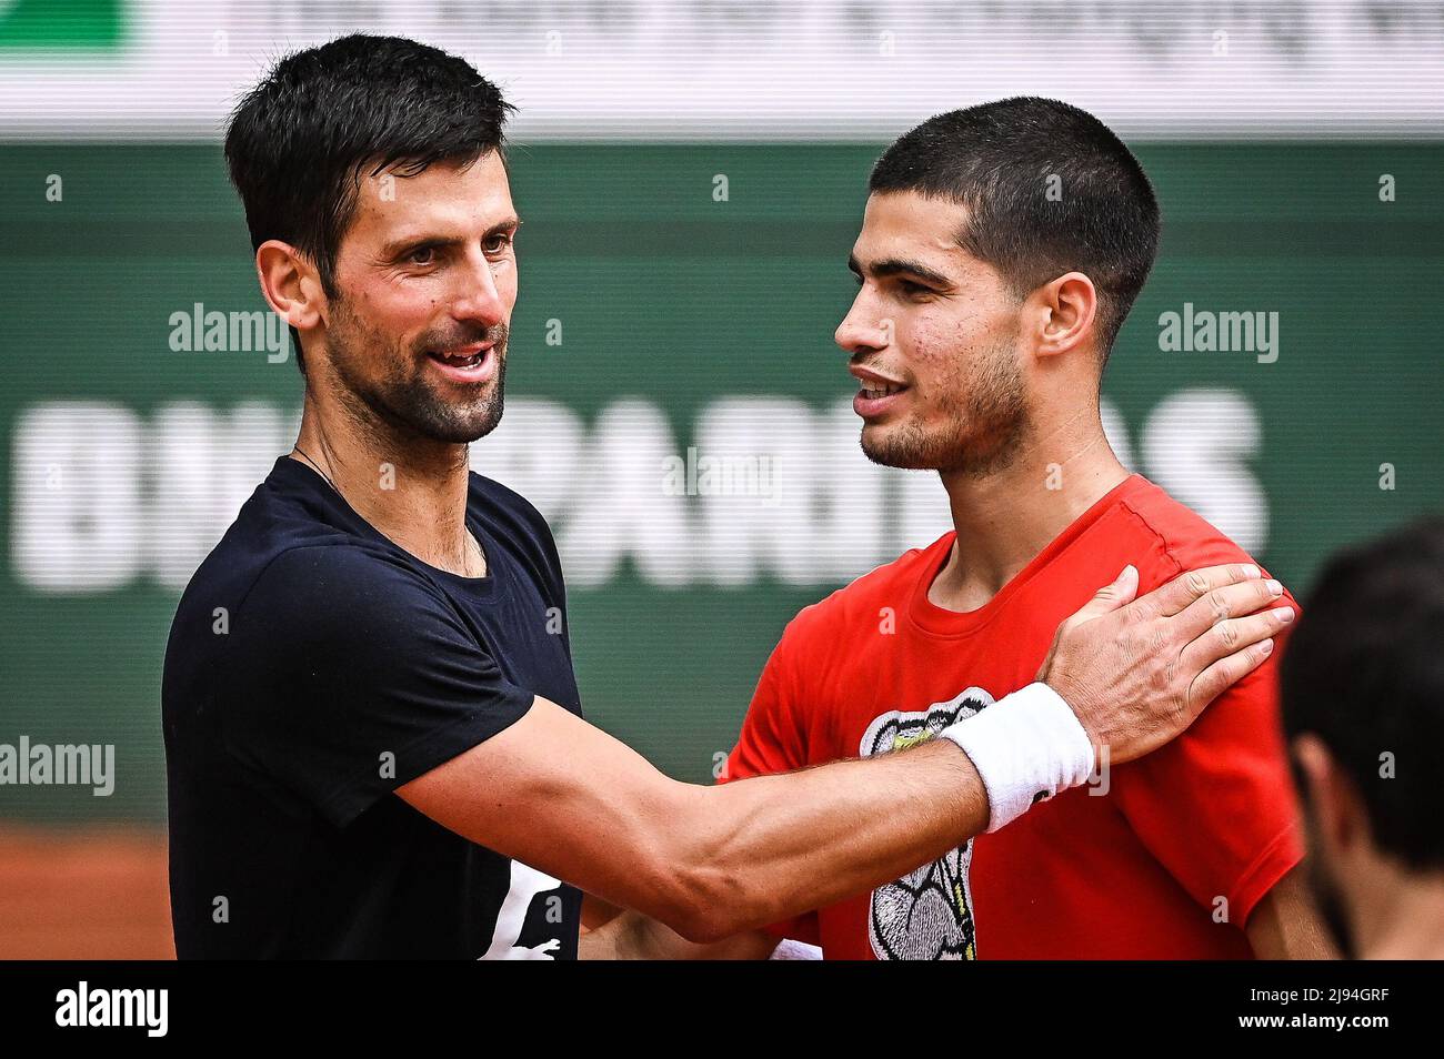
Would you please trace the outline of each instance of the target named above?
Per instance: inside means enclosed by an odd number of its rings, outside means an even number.
[[[1282,602],[1297,612],[1292,597]],[[1112,776],[1144,845],[1210,912],[1225,897],[1227,922],[1240,928],[1304,856],[1279,720],[1279,654],[1181,736]]]

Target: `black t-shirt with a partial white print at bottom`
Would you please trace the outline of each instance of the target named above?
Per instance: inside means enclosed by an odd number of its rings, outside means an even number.
[[[162,690],[179,957],[576,957],[573,887],[393,794],[533,695],[580,714],[546,522],[472,475],[466,525],[487,577],[283,456],[201,564]]]

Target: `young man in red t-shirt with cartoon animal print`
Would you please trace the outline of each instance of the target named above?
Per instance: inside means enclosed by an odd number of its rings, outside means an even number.
[[[897,750],[988,710],[1123,566],[1147,590],[1246,561],[1129,475],[1103,434],[1103,365],[1160,215],[1100,121],[1037,98],[943,114],[888,149],[869,190],[849,261],[859,291],[836,336],[861,382],[862,447],[937,470],[953,532],[788,625],[726,781]],[[778,936],[864,959],[1326,957],[1295,873],[1295,815],[1269,659],[1162,749],[872,893],[706,946],[625,913],[595,944],[650,957],[758,957]]]

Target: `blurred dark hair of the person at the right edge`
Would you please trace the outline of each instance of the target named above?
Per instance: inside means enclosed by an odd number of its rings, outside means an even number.
[[[1323,740],[1380,850],[1444,867],[1444,518],[1343,553],[1302,612],[1281,662],[1288,737]]]

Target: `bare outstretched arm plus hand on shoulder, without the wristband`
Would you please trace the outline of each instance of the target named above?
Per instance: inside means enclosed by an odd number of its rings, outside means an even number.
[[[1040,677],[1113,762],[1147,753],[1266,656],[1281,623],[1252,613],[1274,596],[1248,577],[1213,567],[1122,607],[1136,580],[1121,580],[1064,622]],[[986,830],[989,815],[978,770],[950,742],[705,788],[543,698],[397,794],[703,942],[897,879]]]

